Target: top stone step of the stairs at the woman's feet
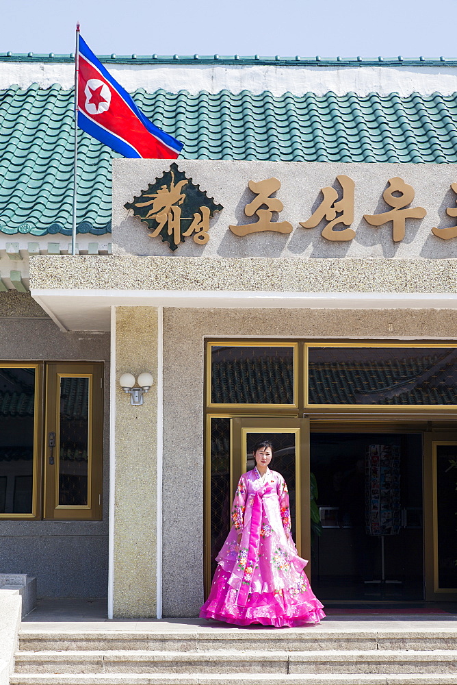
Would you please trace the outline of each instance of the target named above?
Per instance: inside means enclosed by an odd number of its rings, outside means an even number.
[[[34,612],[36,613],[36,612]],[[361,625],[358,619],[341,621],[326,619],[321,625],[289,629],[283,632],[272,632],[260,625],[249,630],[222,624],[203,623],[203,620],[187,622],[174,621],[140,621],[131,624],[110,621],[92,622],[89,626],[78,623],[72,630],[62,623],[41,623],[34,628],[31,616],[23,624],[20,634],[21,651],[72,651],[81,650],[140,650],[140,651],[216,651],[226,649],[242,651],[319,651],[327,650],[395,650],[395,651],[430,651],[435,649],[453,650],[456,646],[457,630],[455,622],[445,621],[440,616],[436,620],[424,623],[408,617],[408,621],[399,625],[399,621],[387,620],[365,621]],[[389,630],[384,630],[384,624]],[[75,625],[75,624],[74,624]],[[363,627],[362,627],[363,626]],[[424,626],[427,626],[424,630]],[[76,626],[75,626],[76,627]]]

